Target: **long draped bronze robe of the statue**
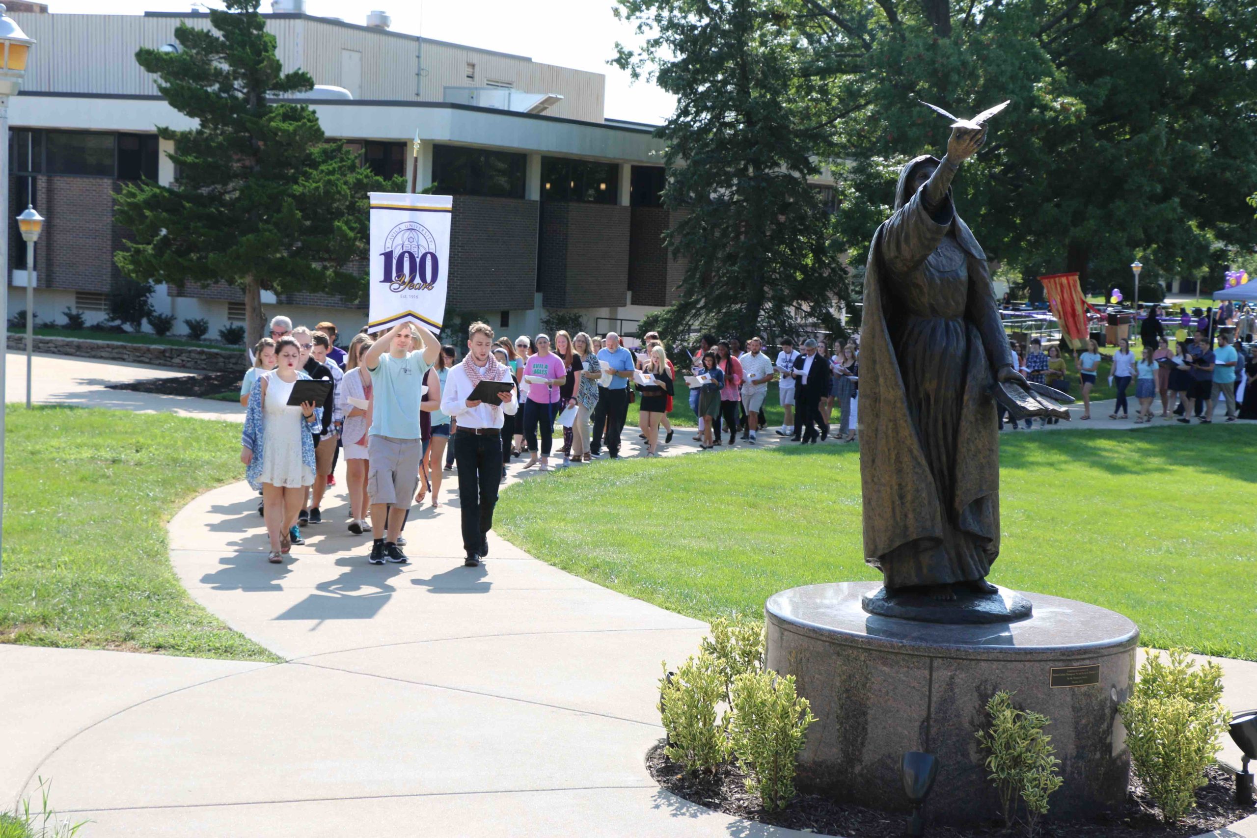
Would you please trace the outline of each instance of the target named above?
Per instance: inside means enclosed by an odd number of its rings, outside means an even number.
[[[984,578],[999,554],[999,438],[989,387],[1012,363],[987,259],[948,191],[933,217],[900,173],[874,235],[860,343],[869,564],[890,589]],[[938,161],[934,161],[935,163]]]

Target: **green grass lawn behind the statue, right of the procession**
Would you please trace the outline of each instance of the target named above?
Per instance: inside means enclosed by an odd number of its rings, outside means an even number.
[[[1150,646],[1257,661],[1257,427],[1001,443],[993,582],[1121,612]],[[495,524],[564,570],[701,619],[758,617],[794,585],[880,578],[862,559],[855,445],[564,470],[512,486]]]

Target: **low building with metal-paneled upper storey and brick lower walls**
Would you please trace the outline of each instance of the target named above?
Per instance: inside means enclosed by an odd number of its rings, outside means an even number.
[[[127,234],[112,220],[112,193],[141,176],[170,183],[171,147],[155,127],[191,127],[131,57],[173,44],[180,24],[207,28],[209,15],[11,16],[36,40],[10,103],[10,216],[33,201],[48,217],[31,276],[35,312],[59,320],[69,308],[96,322],[119,279],[112,254]],[[510,334],[535,333],[546,310],[561,308],[579,310],[591,332],[631,332],[670,302],[681,268],[659,239],[670,222],[657,201],[661,143],[647,126],[603,118],[601,74],[304,14],[265,18],[285,69],[352,95],[307,98],[329,137],[353,143],[382,175],[456,196],[451,310]],[[562,98],[523,113],[445,102],[449,88]],[[416,132],[422,146],[412,157]],[[28,270],[10,227],[16,310]],[[176,318],[176,333],[184,319],[207,319],[212,335],[244,317],[240,291],[225,285],[160,285],[153,304]],[[346,334],[366,322],[365,309],[317,294],[268,294],[264,304],[312,325],[334,320]]]

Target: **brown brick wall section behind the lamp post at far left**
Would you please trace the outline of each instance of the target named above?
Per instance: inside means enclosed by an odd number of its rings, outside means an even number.
[[[16,264],[19,246],[26,246],[15,232],[18,222],[13,220],[26,209],[18,206],[18,180],[9,178],[10,271]],[[107,177],[69,175],[36,175],[34,180],[35,209],[48,219],[36,244],[39,286],[108,293],[119,276],[113,251],[121,246],[124,234],[113,224],[116,182]]]

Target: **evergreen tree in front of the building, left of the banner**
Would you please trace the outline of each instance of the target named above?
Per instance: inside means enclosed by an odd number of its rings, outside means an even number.
[[[141,281],[243,288],[250,346],[265,328],[264,289],[362,297],[346,265],[366,256],[367,192],[403,188],[329,142],[309,107],[270,101],[314,83],[283,70],[258,4],[225,0],[210,11],[214,30],[175,30],[178,52],[136,53],[170,106],[199,124],[158,127],[175,142],[177,181],[123,186],[116,217],[133,240],[114,254]]]

